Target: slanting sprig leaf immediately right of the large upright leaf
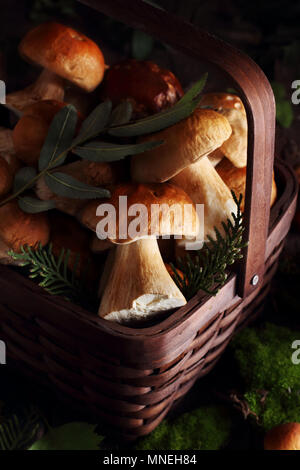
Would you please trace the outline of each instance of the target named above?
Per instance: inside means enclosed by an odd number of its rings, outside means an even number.
[[[111,101],[104,101],[99,104],[83,121],[80,132],[73,141],[73,146],[92,139],[103,132],[109,122],[111,108]]]

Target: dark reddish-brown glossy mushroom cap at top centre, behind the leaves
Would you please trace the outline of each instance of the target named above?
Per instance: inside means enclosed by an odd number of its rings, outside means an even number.
[[[169,70],[153,62],[129,59],[107,71],[103,95],[113,104],[129,100],[135,114],[148,115],[175,104],[183,90]]]

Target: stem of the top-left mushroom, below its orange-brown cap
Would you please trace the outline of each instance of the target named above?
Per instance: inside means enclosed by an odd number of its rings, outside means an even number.
[[[65,94],[64,80],[53,72],[43,69],[38,79],[24,90],[9,93],[7,104],[22,111],[26,106],[41,100],[63,101]]]

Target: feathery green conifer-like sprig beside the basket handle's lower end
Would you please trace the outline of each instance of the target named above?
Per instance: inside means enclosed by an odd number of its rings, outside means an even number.
[[[247,246],[243,240],[243,214],[241,212],[242,195],[237,199],[232,191],[237,206],[237,213],[232,212],[232,218],[222,222],[224,235],[215,227],[216,239],[208,236],[201,250],[192,258],[187,254],[185,259],[177,258],[176,265],[183,277],[171,264],[174,280],[187,300],[199,290],[210,295],[216,295],[227,280],[228,266],[243,258],[242,250]]]

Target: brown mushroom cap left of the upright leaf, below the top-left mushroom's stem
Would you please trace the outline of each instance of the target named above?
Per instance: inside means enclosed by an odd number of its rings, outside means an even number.
[[[24,114],[13,130],[17,157],[27,165],[36,165],[55,114],[66,103],[56,100],[38,101],[24,108]]]

